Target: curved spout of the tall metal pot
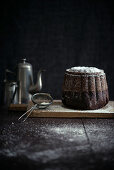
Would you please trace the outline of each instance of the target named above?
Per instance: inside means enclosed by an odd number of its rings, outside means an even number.
[[[42,89],[42,72],[44,72],[44,71],[45,70],[43,70],[43,69],[38,71],[37,82],[35,85],[30,86],[29,93],[34,94],[34,93],[38,93],[41,91],[41,89]]]

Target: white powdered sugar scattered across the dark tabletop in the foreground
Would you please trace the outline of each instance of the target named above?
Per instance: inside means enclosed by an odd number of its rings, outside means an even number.
[[[11,124],[0,134],[0,156],[23,158],[36,163],[68,159],[88,150],[82,124],[69,120],[30,119]],[[81,121],[80,121],[81,122]],[[85,143],[82,145],[82,142]],[[81,143],[81,144],[80,144]],[[75,152],[74,152],[75,150]]]

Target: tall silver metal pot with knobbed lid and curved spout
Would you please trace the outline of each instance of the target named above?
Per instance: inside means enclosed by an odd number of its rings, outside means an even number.
[[[28,103],[31,100],[31,94],[37,93],[42,89],[42,72],[39,70],[37,74],[37,82],[33,82],[33,69],[26,59],[22,59],[22,63],[17,66],[17,82],[19,84],[19,103]]]

